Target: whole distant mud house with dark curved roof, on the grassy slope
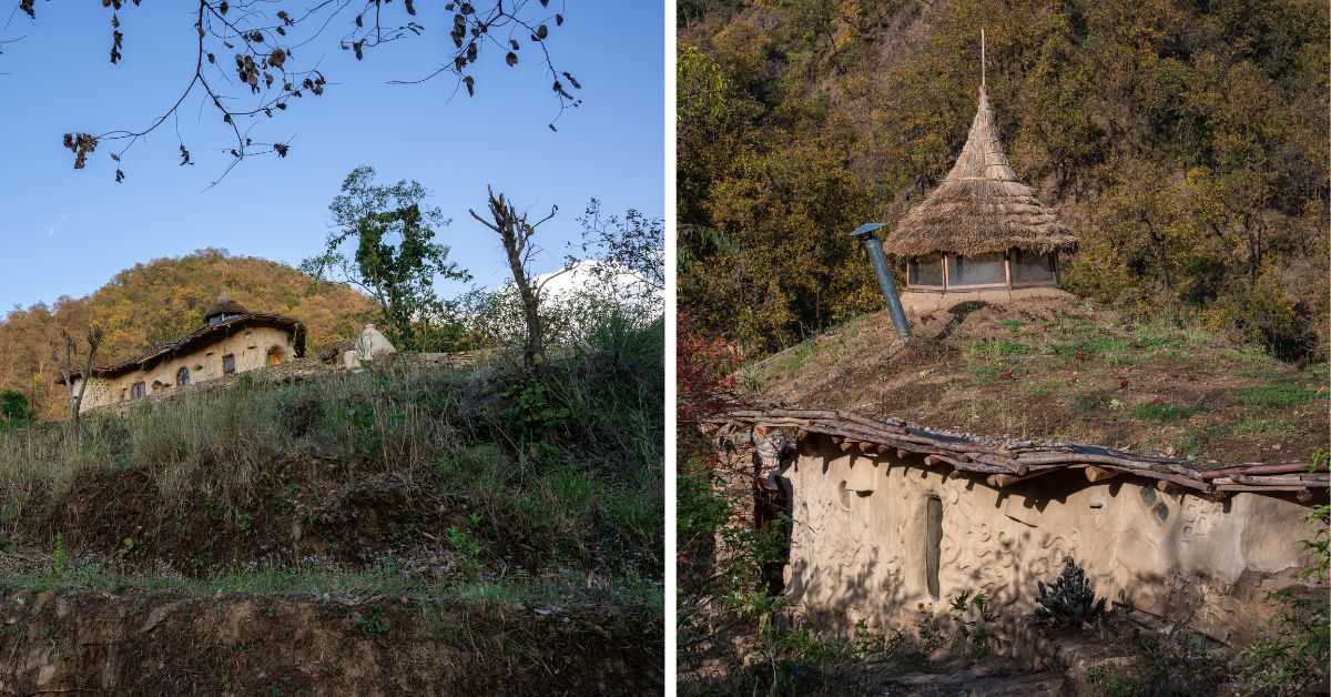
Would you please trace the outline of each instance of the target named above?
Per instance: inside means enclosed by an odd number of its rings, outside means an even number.
[[[291,317],[252,312],[226,296],[204,313],[193,332],[116,365],[76,373],[75,392],[88,380],[81,412],[277,365],[305,354],[305,325]],[[63,382],[63,381],[60,381]]]

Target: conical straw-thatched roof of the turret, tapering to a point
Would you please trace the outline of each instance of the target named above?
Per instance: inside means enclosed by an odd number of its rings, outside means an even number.
[[[1077,239],[1036,199],[1034,189],[1017,181],[981,87],[980,108],[957,164],[897,223],[882,247],[898,256],[976,256],[1013,247],[1047,253],[1071,252]]]

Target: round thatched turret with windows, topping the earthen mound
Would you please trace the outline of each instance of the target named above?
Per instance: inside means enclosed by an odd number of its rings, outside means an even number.
[[[912,208],[882,241],[906,257],[908,311],[964,300],[1004,301],[1066,296],[1058,291],[1058,256],[1077,239],[1008,163],[993,109],[980,104],[966,145],[938,188]]]

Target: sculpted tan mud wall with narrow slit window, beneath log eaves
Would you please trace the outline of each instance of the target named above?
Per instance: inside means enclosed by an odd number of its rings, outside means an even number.
[[[1242,640],[1270,614],[1266,592],[1296,580],[1312,529],[1291,501],[1239,493],[1226,502],[1165,494],[1119,477],[1091,484],[1059,472],[997,490],[912,460],[844,454],[813,436],[783,472],[791,489],[787,589],[843,628],[910,626],[918,604],[942,612],[964,589],[984,590],[1009,620],[1030,617],[1036,581],[1065,556],[1097,592],[1167,614],[1170,582],[1202,598],[1195,626]],[[925,578],[925,505],[942,502],[940,598]]]

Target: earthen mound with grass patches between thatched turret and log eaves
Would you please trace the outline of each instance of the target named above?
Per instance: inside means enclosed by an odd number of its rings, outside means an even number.
[[[930,428],[1209,461],[1308,460],[1326,449],[1327,364],[1304,368],[1198,328],[1093,303],[964,303],[856,317],[744,368],[752,393]]]

